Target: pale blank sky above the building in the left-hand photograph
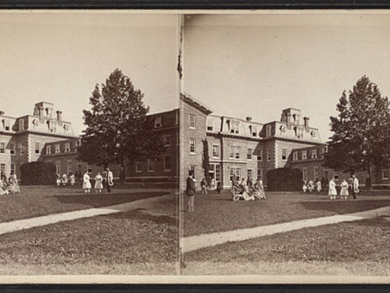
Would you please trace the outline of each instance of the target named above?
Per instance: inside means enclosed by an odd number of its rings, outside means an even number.
[[[81,134],[95,84],[116,68],[151,113],[178,107],[178,18],[126,12],[0,13],[0,109],[33,114],[53,102]]]

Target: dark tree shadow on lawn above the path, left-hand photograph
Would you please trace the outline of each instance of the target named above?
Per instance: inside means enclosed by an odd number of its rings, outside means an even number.
[[[139,199],[169,194],[169,192],[137,192],[137,193],[83,193],[77,195],[53,195],[63,204],[82,204],[91,208],[113,206],[129,203]]]

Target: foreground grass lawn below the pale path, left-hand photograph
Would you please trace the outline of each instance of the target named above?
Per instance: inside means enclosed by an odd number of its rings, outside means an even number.
[[[0,235],[0,273],[176,274],[176,207],[172,195],[145,209]]]

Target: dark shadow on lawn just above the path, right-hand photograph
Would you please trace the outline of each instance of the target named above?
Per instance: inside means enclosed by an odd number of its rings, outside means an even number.
[[[357,212],[390,206],[390,200],[335,200],[299,202],[305,209],[329,210],[339,213]]]

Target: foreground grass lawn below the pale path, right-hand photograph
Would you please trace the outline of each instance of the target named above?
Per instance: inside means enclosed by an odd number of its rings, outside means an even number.
[[[390,218],[231,242],[185,253],[183,273],[390,275]]]

